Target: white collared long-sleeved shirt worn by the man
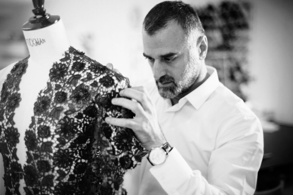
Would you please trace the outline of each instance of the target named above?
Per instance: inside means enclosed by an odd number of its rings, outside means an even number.
[[[263,157],[263,130],[246,104],[219,82],[216,69],[176,105],[155,84],[147,90],[173,150],[161,165],[146,158],[129,170],[130,195],[253,194]],[[154,83],[154,82],[153,82]]]

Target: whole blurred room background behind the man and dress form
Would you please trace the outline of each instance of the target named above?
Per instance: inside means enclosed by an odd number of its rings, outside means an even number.
[[[111,62],[130,83],[153,79],[142,56],[142,21],[160,0],[50,0],[71,45],[101,64]],[[198,12],[208,37],[207,65],[261,119],[265,156],[258,190],[293,194],[293,1],[184,0]],[[28,56],[21,26],[31,0],[0,1],[0,69]],[[264,179],[269,178],[269,179]],[[284,188],[285,187],[285,188]]]

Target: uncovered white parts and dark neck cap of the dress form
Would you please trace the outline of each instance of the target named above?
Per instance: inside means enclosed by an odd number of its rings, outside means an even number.
[[[34,104],[40,89],[44,87],[44,83],[46,83],[49,79],[48,72],[50,68],[52,68],[52,62],[62,57],[64,51],[66,51],[70,46],[70,42],[61,18],[59,16],[50,16],[49,14],[45,15],[43,9],[43,12],[40,12],[40,8],[43,7],[43,4],[40,7],[37,4],[38,1],[33,1],[33,3],[35,6],[33,13],[35,13],[36,16],[30,18],[28,23],[23,25],[23,34],[30,57],[28,59],[26,73],[21,78],[21,83],[19,85],[20,90],[18,92],[21,94],[21,101],[25,103],[20,104],[20,106],[16,108],[14,115],[14,121],[17,121],[15,127],[18,129],[20,134],[19,143],[16,148],[17,156],[19,158],[18,162],[21,165],[25,164],[25,161],[27,160],[25,153],[26,148],[24,147],[24,136],[25,130],[31,122],[31,116],[34,115],[31,105]],[[44,19],[40,20],[40,18]],[[51,21],[48,21],[48,18]],[[37,20],[39,20],[39,22]],[[42,24],[42,22],[44,23],[44,20],[47,22]],[[14,64],[15,63],[7,66],[4,70],[2,70],[2,73],[0,73],[0,90],[7,73],[9,73]],[[0,159],[0,165],[2,169],[2,159]],[[0,184],[0,194],[2,194],[2,189],[5,189],[2,176]],[[23,187],[25,187],[24,179],[21,179],[19,184],[19,192],[21,194],[25,194],[23,190]]]

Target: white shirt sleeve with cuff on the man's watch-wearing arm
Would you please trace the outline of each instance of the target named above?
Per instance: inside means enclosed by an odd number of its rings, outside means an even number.
[[[192,170],[176,148],[150,169],[168,194],[251,195],[263,158],[263,131],[256,117],[238,116],[219,127],[207,178]]]

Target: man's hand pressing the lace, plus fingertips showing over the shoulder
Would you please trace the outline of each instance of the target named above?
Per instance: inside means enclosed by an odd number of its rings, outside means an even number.
[[[108,63],[106,66],[119,73],[117,69],[113,69],[112,64]],[[166,138],[158,123],[155,107],[147,90],[144,87],[126,88],[120,91],[120,95],[122,98],[113,98],[112,104],[131,110],[135,117],[133,119],[107,117],[106,122],[132,129],[142,146],[147,150],[166,143]]]

